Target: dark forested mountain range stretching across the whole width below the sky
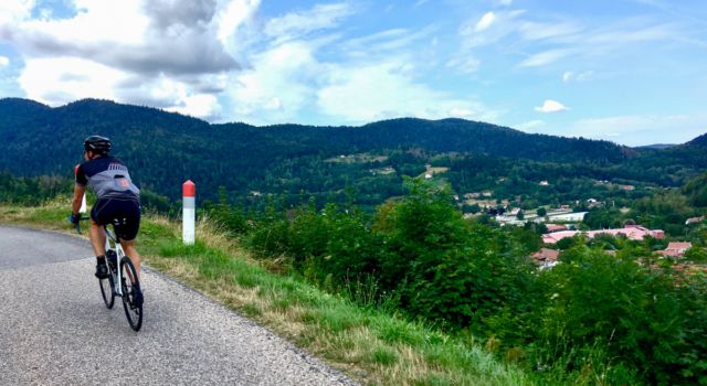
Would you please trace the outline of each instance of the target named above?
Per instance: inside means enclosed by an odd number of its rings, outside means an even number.
[[[82,161],[83,139],[93,133],[114,140],[114,154],[128,164],[140,187],[171,200],[179,199],[181,183],[191,179],[201,197],[214,200],[219,186],[224,186],[234,202],[250,200],[253,192],[300,190],[326,202],[350,187],[372,210],[402,194],[402,176],[416,176],[432,163],[450,168],[441,179],[460,194],[489,189],[494,199],[521,195],[545,204],[577,200],[573,195],[587,192],[594,180],[636,185],[633,193],[593,186],[605,197],[634,199],[644,187],[677,186],[707,168],[705,141],[698,139],[665,150],[637,150],[462,119],[253,127],[209,125],[106,100],[50,108],[31,100],[0,99],[0,170],[68,179]],[[352,154],[368,157],[336,161]],[[538,186],[544,180],[550,184]]]

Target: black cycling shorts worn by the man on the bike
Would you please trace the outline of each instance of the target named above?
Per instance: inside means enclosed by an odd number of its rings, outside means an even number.
[[[91,210],[91,219],[101,225],[113,224],[116,235],[129,242],[140,228],[140,203],[135,199],[98,199]]]

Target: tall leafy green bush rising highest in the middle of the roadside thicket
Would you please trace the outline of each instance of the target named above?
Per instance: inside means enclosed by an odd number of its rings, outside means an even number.
[[[378,213],[382,285],[414,317],[485,331],[487,317],[524,297],[524,261],[502,253],[502,230],[465,222],[446,190],[408,183],[403,202]]]

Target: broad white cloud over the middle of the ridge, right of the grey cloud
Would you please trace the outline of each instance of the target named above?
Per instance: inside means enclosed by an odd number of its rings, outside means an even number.
[[[358,125],[401,116],[479,120],[497,117],[497,112],[473,97],[460,100],[416,79],[420,67],[429,65],[419,44],[434,49],[435,37],[430,37],[432,26],[414,31],[390,29],[348,40],[317,33],[340,22],[349,11],[334,12],[341,17],[323,17],[319,20],[326,22],[310,26],[300,17],[320,13],[321,9],[279,18],[283,23],[288,20],[285,23],[288,26],[270,30],[258,44],[264,49],[249,56],[251,65],[232,76],[233,86],[228,92],[232,106],[228,109],[236,111],[239,119],[256,125],[296,119],[303,124],[334,120]],[[320,55],[321,52],[327,55]],[[330,60],[331,56],[336,60]],[[341,57],[346,61],[341,62]],[[466,65],[473,66],[472,62],[467,58]],[[316,114],[303,121],[305,110]]]

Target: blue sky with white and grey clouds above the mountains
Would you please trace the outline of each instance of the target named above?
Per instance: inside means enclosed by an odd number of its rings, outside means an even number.
[[[682,143],[707,132],[707,1],[1,0],[3,97]]]

